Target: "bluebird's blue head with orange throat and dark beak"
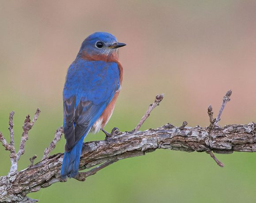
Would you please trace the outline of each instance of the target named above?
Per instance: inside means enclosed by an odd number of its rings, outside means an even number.
[[[95,32],[83,41],[78,56],[87,60],[114,61],[118,60],[118,48],[125,45],[110,33]]]

